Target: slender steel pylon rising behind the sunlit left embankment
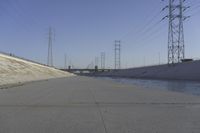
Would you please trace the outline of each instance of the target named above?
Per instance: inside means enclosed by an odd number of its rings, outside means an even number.
[[[49,28],[49,37],[48,37],[48,57],[47,57],[47,65],[48,66],[53,66],[53,30],[50,27]]]

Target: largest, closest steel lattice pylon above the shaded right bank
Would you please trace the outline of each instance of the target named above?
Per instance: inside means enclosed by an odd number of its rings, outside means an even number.
[[[184,6],[185,0],[169,0],[169,5],[164,9],[169,9],[169,14],[165,18],[169,19],[168,27],[168,64],[181,62],[185,58],[183,21],[184,11],[188,8]]]

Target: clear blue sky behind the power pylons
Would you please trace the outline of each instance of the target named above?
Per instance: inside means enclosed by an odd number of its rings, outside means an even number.
[[[56,29],[54,64],[64,54],[86,67],[101,52],[114,64],[114,40],[122,40],[122,67],[167,62],[167,0],[1,0],[0,50],[46,63],[48,27]],[[186,0],[192,15],[184,22],[187,58],[200,58],[200,2]],[[155,25],[155,26],[154,26]]]

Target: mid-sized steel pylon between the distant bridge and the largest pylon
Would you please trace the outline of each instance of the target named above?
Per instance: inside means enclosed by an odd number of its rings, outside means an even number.
[[[115,40],[115,69],[121,68],[121,41]]]

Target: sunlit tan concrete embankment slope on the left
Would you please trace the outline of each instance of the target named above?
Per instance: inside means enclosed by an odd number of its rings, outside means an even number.
[[[0,53],[0,85],[67,76],[72,74]]]

